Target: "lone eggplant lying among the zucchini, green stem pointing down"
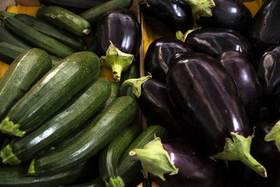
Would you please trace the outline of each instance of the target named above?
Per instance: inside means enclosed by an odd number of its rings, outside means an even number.
[[[116,82],[139,53],[141,26],[134,14],[126,8],[113,8],[97,23],[95,33],[97,55],[105,67],[112,69]]]

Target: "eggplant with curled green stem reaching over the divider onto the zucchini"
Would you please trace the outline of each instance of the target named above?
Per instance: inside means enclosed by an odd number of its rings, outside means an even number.
[[[120,88],[121,95],[127,95],[130,88],[132,96],[150,124],[166,127],[170,137],[188,138],[190,134],[183,130],[185,125],[176,115],[164,83],[151,76],[130,78]]]

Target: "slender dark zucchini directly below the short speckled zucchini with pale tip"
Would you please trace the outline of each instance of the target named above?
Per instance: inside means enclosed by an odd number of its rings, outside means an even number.
[[[56,39],[57,41],[60,41],[70,48],[78,51],[85,50],[85,41],[83,41],[83,39],[81,39],[79,36],[76,36],[76,34],[63,29],[59,29],[58,27],[50,25],[48,22],[44,22],[43,20],[40,20],[38,18],[34,18],[31,15],[17,14],[15,15],[15,18],[22,22],[25,22],[27,25],[29,25],[33,29],[36,29],[38,32],[41,32],[52,37],[53,39]]]

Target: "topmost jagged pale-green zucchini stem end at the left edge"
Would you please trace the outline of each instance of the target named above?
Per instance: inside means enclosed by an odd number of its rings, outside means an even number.
[[[8,116],[6,116],[6,118],[0,123],[0,130],[4,134],[10,134],[16,137],[25,136],[25,131],[20,130],[20,124],[14,124]]]

